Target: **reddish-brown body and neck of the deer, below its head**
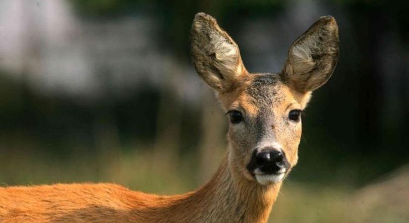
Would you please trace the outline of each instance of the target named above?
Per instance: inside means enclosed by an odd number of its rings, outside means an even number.
[[[145,194],[116,184],[0,188],[0,222],[266,222],[280,185],[254,187],[245,181],[234,185],[227,165],[225,158],[209,183],[176,196]]]

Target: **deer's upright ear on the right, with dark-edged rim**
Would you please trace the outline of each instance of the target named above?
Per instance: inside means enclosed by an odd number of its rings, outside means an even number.
[[[282,79],[298,92],[313,91],[331,77],[339,52],[337,22],[323,16],[292,43]]]

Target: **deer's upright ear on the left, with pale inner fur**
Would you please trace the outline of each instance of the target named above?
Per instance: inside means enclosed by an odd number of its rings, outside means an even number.
[[[247,71],[233,39],[216,19],[197,13],[190,33],[190,53],[197,73],[213,89],[223,92]]]

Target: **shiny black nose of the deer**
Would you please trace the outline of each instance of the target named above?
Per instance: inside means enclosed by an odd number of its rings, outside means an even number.
[[[255,153],[257,167],[266,174],[276,173],[286,167],[287,161],[282,151],[264,148]]]

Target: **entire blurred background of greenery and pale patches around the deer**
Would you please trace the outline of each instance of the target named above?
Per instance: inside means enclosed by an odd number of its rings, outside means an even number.
[[[227,119],[189,61],[195,13],[250,72],[277,72],[322,15],[341,55],[303,117],[276,223],[409,222],[409,1],[2,0],[0,183],[115,182],[159,194],[205,183]]]

